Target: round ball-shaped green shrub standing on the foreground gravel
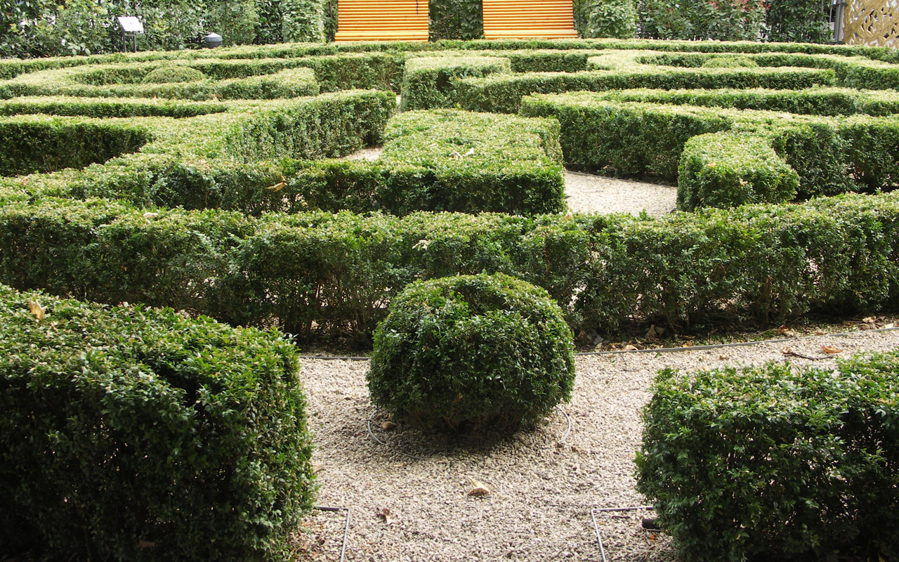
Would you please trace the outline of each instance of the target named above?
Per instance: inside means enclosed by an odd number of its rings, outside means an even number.
[[[546,290],[508,275],[408,285],[374,335],[371,401],[452,432],[536,424],[574,386],[574,343]]]

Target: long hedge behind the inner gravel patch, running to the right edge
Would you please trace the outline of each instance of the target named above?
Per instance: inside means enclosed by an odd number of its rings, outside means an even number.
[[[749,137],[770,139],[770,145],[799,174],[802,197],[834,195],[848,191],[891,189],[899,181],[899,123],[874,117],[850,116],[834,121],[822,117],[735,112],[691,106],[654,103],[616,103],[615,94],[570,93],[525,98],[521,113],[533,117],[556,117],[562,126],[560,138],[565,162],[591,167],[613,175],[649,174],[674,181],[685,143],[703,133],[734,131]],[[749,145],[757,141],[749,141]],[[731,152],[741,149],[728,142]],[[747,146],[746,150],[757,153]],[[752,175],[761,182],[752,189],[768,201],[770,180],[784,173],[781,164],[763,158],[769,170]],[[773,174],[773,175],[772,175]],[[768,176],[768,179],[764,179]],[[681,181],[682,190],[705,192],[690,186],[696,176]],[[728,203],[725,192],[713,199]],[[771,201],[780,201],[780,196]],[[701,199],[701,198],[700,198]],[[699,201],[695,194],[681,194],[681,201]],[[685,207],[692,209],[692,207]]]

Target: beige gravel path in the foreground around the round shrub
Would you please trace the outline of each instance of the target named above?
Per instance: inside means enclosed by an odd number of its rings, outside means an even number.
[[[823,335],[788,343],[686,352],[580,355],[572,402],[564,415],[511,438],[452,441],[399,426],[384,431],[374,414],[375,442],[366,430],[373,408],[365,372],[369,361],[303,360],[310,426],[316,437],[320,505],[352,508],[348,560],[601,560],[592,508],[641,505],[634,454],[639,411],[657,370],[713,368],[762,361],[832,366],[833,360],[786,357],[786,347],[823,356],[830,345],[853,352],[899,345],[899,332]],[[417,459],[403,453],[414,455]],[[468,495],[469,478],[489,487]],[[663,533],[643,531],[652,512],[602,515],[599,529],[609,560],[672,559]],[[343,513],[315,513],[299,542],[310,559],[338,560]]]

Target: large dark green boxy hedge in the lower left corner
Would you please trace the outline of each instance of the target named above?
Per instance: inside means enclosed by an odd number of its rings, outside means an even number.
[[[283,335],[4,286],[0,310],[6,554],[289,558],[315,476]]]

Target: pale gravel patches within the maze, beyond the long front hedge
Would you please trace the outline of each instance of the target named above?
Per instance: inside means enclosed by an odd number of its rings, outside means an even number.
[[[367,147],[344,157],[370,162],[383,151],[383,147]],[[677,188],[566,171],[565,196],[568,209],[573,212],[638,215],[645,210],[651,217],[660,217],[674,210]]]

